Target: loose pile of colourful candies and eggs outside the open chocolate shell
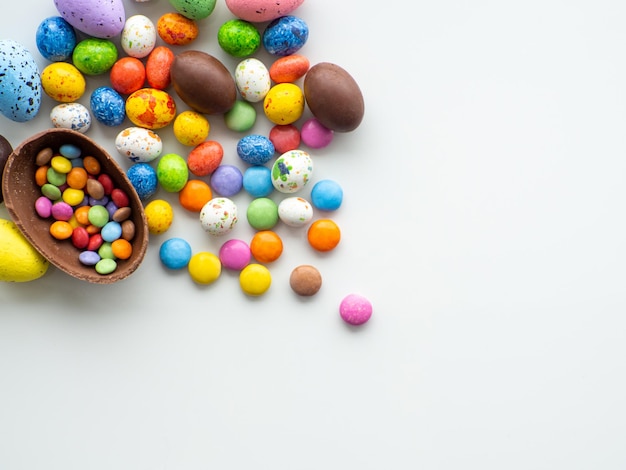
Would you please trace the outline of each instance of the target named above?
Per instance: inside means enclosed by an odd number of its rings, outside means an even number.
[[[141,14],[126,17],[123,0],[54,0],[59,16],[43,20],[36,33],[37,48],[50,63],[40,74],[35,66],[30,88],[4,81],[0,95],[6,92],[8,98],[0,101],[0,112],[14,121],[28,121],[38,112],[42,91],[58,102],[50,113],[55,127],[85,133],[94,120],[116,127],[128,118],[132,126],[118,133],[115,147],[131,162],[127,176],[146,203],[151,234],[165,233],[173,220],[169,202],[151,200],[159,186],[177,193],[183,208],[197,212],[201,227],[212,237],[233,230],[242,214],[232,197],[246,191],[253,199],[245,217],[256,230],[250,243],[228,239],[218,254],[192,254],[185,240],[171,238],[162,243],[159,256],[169,269],[187,268],[200,284],[214,282],[222,268],[239,270],[242,290],[262,295],[271,284],[265,265],[282,253],[282,241],[273,231],[277,223],[308,227],[307,240],[318,251],[331,251],[340,242],[337,224],[331,218],[313,221],[313,208],[338,209],[342,189],[327,179],[315,183],[311,201],[298,194],[313,173],[313,160],[300,146],[324,148],[335,132],[356,129],[364,114],[359,86],[346,70],[329,62],[311,65],[298,53],[309,34],[306,22],[295,15],[303,1],[225,0],[234,18],[220,26],[217,42],[240,60],[231,72],[203,50],[176,52],[178,46],[193,44],[216,0],[169,0],[173,11],[156,23]],[[119,39],[122,54],[113,39]],[[269,67],[253,57],[261,48],[274,57]],[[18,43],[0,41],[3,70],[19,63],[28,72],[33,62]],[[80,104],[88,77],[103,74],[109,75],[110,85],[91,93],[89,108]],[[23,96],[29,90],[30,96]],[[189,109],[179,112],[175,98]],[[30,106],[18,109],[15,102]],[[256,121],[256,103],[273,127],[268,135],[239,140],[237,155],[246,166],[241,171],[223,162],[221,144],[208,139],[207,116],[223,116],[229,130],[246,133]],[[312,117],[298,128],[305,107]],[[189,147],[188,155],[164,153],[158,130],[166,126]],[[210,177],[210,185],[204,177]],[[283,195],[279,203],[270,197],[276,192]],[[321,275],[314,266],[298,266],[290,286],[298,295],[314,295]],[[365,323],[371,312],[371,303],[358,294],[340,306],[341,317],[353,325]]]

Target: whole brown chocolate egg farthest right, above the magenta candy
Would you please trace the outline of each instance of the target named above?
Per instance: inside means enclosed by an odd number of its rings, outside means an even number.
[[[320,62],[304,76],[304,97],[311,113],[328,129],[350,132],[363,120],[365,103],[359,85],[346,70]]]

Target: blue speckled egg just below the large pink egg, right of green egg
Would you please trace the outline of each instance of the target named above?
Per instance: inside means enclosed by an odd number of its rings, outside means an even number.
[[[287,56],[304,46],[309,26],[297,16],[287,15],[270,21],[263,31],[263,47],[272,55]]]

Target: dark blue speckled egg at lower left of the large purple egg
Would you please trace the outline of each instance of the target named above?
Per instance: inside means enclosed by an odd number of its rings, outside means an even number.
[[[76,31],[64,18],[50,16],[39,23],[35,41],[45,59],[51,62],[68,61],[76,47]]]

